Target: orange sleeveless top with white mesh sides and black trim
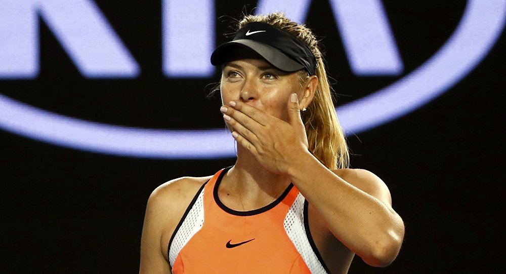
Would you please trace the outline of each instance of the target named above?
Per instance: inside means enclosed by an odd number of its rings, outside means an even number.
[[[168,243],[174,274],[328,273],[307,222],[308,203],[290,184],[271,204],[252,211],[218,198],[222,169],[197,192]]]

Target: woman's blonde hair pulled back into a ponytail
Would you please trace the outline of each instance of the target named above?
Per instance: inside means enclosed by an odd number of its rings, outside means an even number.
[[[304,24],[298,24],[286,18],[283,13],[268,15],[244,15],[237,23],[237,30],[252,22],[263,22],[288,31],[304,42],[316,57],[318,86],[307,111],[302,112],[306,127],[309,151],[327,168],[338,169],[349,167],[350,153],[346,137],[339,124],[332,103],[331,88],[328,83],[323,57],[318,48],[318,41],[312,31]],[[301,83],[309,79],[307,71],[301,70]]]

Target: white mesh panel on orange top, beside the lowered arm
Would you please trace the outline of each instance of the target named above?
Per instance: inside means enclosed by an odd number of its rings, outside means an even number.
[[[195,204],[193,204],[192,208],[186,215],[185,220],[179,227],[178,231],[175,231],[176,236],[174,236],[168,252],[168,259],[171,263],[171,267],[174,266],[174,262],[176,261],[181,249],[188,243],[188,241],[190,241],[193,235],[202,228],[202,224],[204,223],[203,197],[204,189],[202,188]]]

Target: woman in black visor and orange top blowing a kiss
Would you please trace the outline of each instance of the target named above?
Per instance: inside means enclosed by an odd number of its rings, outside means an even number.
[[[153,191],[140,273],[346,273],[355,254],[389,265],[404,225],[385,183],[347,168],[314,35],[277,13],[237,29],[211,57],[237,161]]]

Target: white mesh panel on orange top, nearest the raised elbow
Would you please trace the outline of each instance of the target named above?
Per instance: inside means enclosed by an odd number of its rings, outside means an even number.
[[[309,270],[313,274],[326,274],[327,272],[323,268],[323,265],[316,257],[316,254],[309,243],[306,228],[304,227],[304,201],[306,199],[299,193],[297,199],[288,210],[284,220],[284,228],[288,238],[301,254],[302,259],[308,266]]]

